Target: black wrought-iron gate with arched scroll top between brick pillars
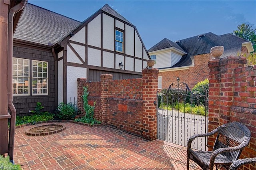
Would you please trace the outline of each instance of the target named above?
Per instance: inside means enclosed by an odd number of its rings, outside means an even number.
[[[172,83],[166,91],[157,94],[158,139],[187,146],[194,134],[208,129],[208,91],[194,94],[184,82]],[[207,138],[197,138],[192,148],[207,150]]]

